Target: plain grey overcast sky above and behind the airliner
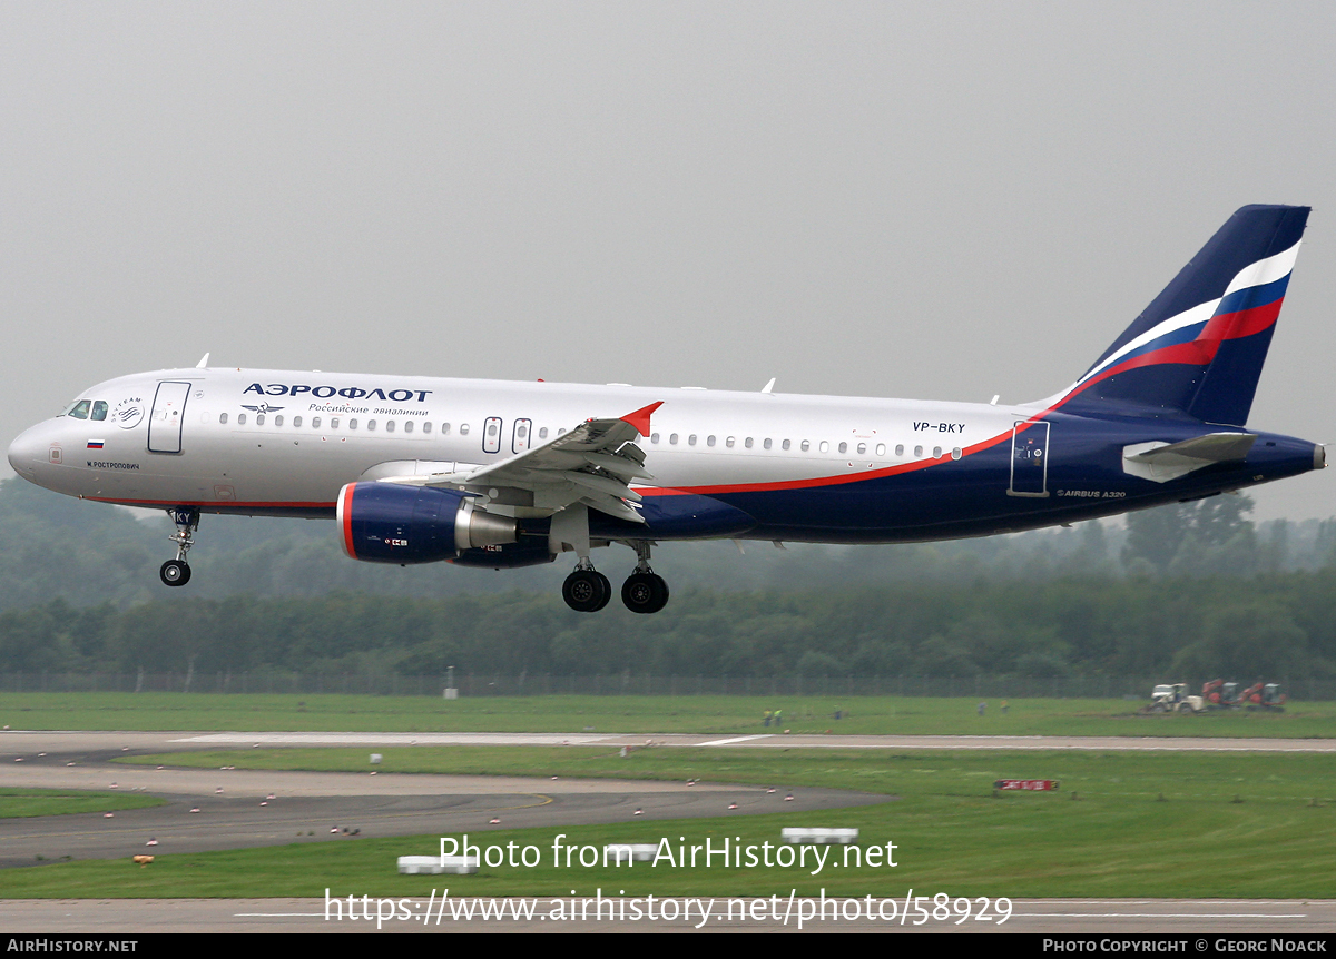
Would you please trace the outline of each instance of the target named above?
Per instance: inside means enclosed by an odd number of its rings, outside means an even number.
[[[206,350],[1037,399],[1245,203],[1315,207],[1250,422],[1336,439],[1333,37],[1331,3],[7,0],[0,439]]]

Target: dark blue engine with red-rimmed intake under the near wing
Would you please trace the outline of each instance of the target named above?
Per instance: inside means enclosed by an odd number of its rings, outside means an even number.
[[[474,505],[474,497],[432,486],[354,482],[338,494],[343,552],[367,562],[438,562],[470,549],[518,540],[518,524]]]

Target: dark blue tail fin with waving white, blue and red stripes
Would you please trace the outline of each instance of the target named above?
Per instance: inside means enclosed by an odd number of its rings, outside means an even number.
[[[1129,403],[1242,426],[1309,207],[1238,210],[1059,405]]]

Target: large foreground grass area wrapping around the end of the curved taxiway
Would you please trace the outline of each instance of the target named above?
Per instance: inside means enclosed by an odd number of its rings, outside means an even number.
[[[1109,898],[1336,898],[1336,756],[1304,753],[914,752],[866,749],[643,749],[461,747],[383,749],[385,771],[701,777],[826,785],[895,797],[828,812],[727,816],[470,832],[482,845],[538,847],[536,868],[476,876],[398,876],[394,857],[438,849],[437,836],[317,835],[279,848],[162,856],[0,872],[0,896],[452,895],[904,895]],[[365,749],[251,749],[175,755],[171,763],[367,769]],[[226,760],[226,761],[224,761]],[[139,757],[160,763],[162,757]],[[1059,779],[1054,793],[1002,793],[994,779]],[[560,787],[554,787],[560,788]],[[684,787],[685,788],[685,787]],[[1162,800],[1161,800],[1162,796]],[[1237,801],[1236,801],[1237,800]],[[727,805],[727,793],[720,805]],[[721,813],[724,809],[721,808]],[[502,813],[504,815],[504,813]],[[896,845],[895,868],[554,868],[552,843],[776,843],[783,825],[852,825],[860,844]],[[836,855],[836,853],[831,853]],[[811,863],[808,863],[811,867]]]

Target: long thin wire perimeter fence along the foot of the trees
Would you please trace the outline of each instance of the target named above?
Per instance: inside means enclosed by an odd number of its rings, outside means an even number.
[[[1180,681],[1182,677],[1177,677]],[[1214,679],[1214,677],[1212,677]],[[0,693],[190,692],[362,696],[444,695],[446,676],[397,673],[0,673]],[[1126,699],[1149,701],[1164,677],[1062,676],[476,676],[456,673],[461,697],[484,696],[935,696],[1001,699]],[[1336,681],[1279,680],[1292,700],[1336,700]],[[1188,691],[1201,691],[1202,680]]]

